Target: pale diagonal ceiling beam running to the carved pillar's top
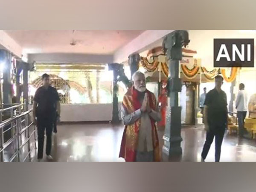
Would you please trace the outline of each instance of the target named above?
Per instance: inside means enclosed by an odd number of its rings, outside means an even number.
[[[146,30],[130,43],[118,49],[113,56],[115,63],[122,63],[128,60],[128,56],[134,52],[143,52],[161,44],[161,38],[174,30]],[[152,47],[151,47],[152,46]]]

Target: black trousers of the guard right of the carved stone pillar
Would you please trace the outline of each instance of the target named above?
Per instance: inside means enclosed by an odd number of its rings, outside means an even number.
[[[215,137],[215,161],[220,161],[221,157],[221,144],[223,141],[224,133],[225,133],[225,125],[223,126],[215,126],[210,127],[209,131],[206,134],[206,141],[204,143],[204,148],[202,151],[202,158],[205,159],[211,147],[212,141]]]

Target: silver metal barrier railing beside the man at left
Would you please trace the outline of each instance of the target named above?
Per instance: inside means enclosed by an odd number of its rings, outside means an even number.
[[[23,110],[21,110],[22,107]],[[14,161],[15,159],[17,161],[26,161],[28,157],[29,161],[31,161],[31,152],[36,149],[37,139],[36,128],[33,126],[33,122],[30,121],[32,109],[26,111],[24,104],[1,109],[0,120],[2,120],[2,114],[8,111],[10,111],[10,118],[0,122],[0,161]],[[11,137],[6,140],[4,136],[8,131],[11,131]],[[34,140],[31,141],[33,136]],[[25,149],[26,145],[27,150]],[[10,158],[6,158],[4,152],[8,153],[9,151],[13,151],[13,153]],[[25,157],[22,158],[24,154]]]

